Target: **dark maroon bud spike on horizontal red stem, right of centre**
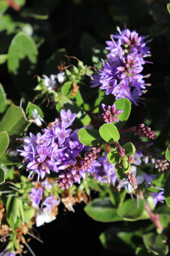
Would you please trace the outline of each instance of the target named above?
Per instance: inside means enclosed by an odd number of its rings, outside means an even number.
[[[142,135],[145,138],[148,139],[155,139],[156,135],[154,131],[151,131],[151,128],[148,126],[145,126],[145,124],[139,124],[138,126],[133,126],[131,128],[133,132],[135,132],[137,135]]]

